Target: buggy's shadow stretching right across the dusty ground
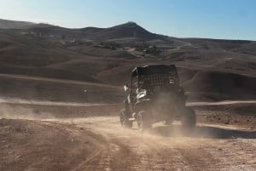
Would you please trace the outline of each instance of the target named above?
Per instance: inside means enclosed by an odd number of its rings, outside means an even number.
[[[157,126],[150,130],[150,134],[165,137],[191,137],[204,139],[256,139],[256,131],[233,130],[212,126],[196,126],[193,130],[185,130],[181,125]]]

